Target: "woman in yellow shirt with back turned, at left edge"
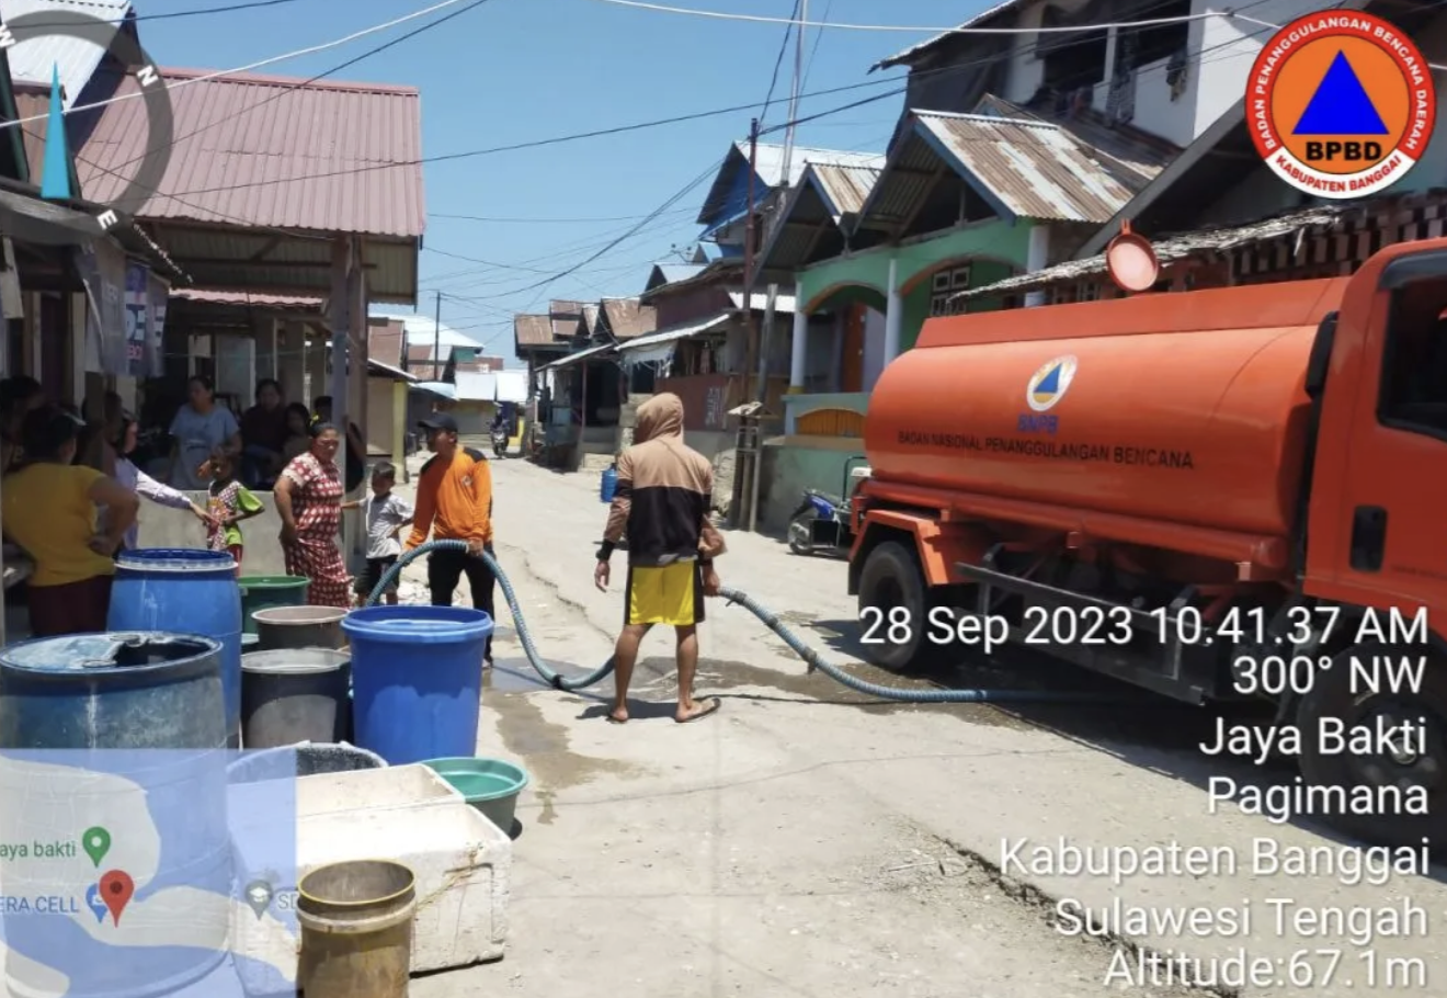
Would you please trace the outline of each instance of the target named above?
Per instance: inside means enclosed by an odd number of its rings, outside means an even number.
[[[0,488],[0,523],[35,562],[29,582],[36,637],[106,630],[114,552],[140,500],[94,468],[72,465],[80,422],[54,406],[25,417],[25,465]],[[97,507],[107,508],[97,533]]]

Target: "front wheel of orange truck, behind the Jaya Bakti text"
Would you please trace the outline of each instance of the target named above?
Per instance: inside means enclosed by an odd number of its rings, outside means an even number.
[[[1428,661],[1421,685],[1411,689],[1380,692],[1353,691],[1351,656],[1415,659],[1420,652],[1382,645],[1362,645],[1333,659],[1330,669],[1318,669],[1311,689],[1297,707],[1301,729],[1301,773],[1318,787],[1422,787],[1427,791],[1425,814],[1398,814],[1391,807],[1373,814],[1323,814],[1327,824],[1378,846],[1420,846],[1427,837],[1437,847],[1447,839],[1447,675],[1440,663]],[[1383,684],[1386,685],[1386,684]],[[1340,721],[1350,733],[1357,726],[1376,731],[1379,723],[1391,729],[1411,721],[1411,737],[1382,739],[1372,752],[1336,752],[1323,742],[1323,723],[1337,729]],[[1330,753],[1328,753],[1330,752]]]

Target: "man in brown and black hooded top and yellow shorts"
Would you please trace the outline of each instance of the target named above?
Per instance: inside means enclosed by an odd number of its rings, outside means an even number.
[[[628,537],[628,585],[624,629],[615,649],[615,694],[608,720],[628,720],[628,682],[642,636],[654,624],[673,627],[679,639],[679,710],[682,723],[708,717],[716,698],[693,700],[699,665],[697,624],[703,597],[718,595],[713,559],[724,553],[724,539],[709,523],[713,466],[683,443],[683,401],[654,395],[638,407],[634,445],[618,456],[618,491],[608,510],[603,543],[598,549],[593,582],[608,590],[609,558]]]

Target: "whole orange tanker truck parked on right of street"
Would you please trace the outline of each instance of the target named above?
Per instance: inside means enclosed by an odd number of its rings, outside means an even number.
[[[1447,239],[1353,277],[932,319],[865,450],[849,592],[878,665],[1009,642],[1269,697],[1302,810],[1447,840]]]

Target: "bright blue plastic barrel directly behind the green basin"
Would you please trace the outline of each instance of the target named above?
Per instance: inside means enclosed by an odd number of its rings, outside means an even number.
[[[478,750],[492,617],[472,607],[368,607],[341,629],[352,647],[357,746],[394,766]]]

